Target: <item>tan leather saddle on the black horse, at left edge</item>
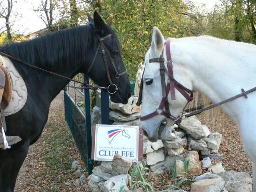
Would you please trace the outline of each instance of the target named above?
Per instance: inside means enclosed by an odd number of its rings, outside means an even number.
[[[5,74],[4,93],[1,102],[3,109],[5,109],[12,99],[12,78],[10,76],[9,71],[5,67],[4,58],[2,58],[2,56],[0,56],[0,68],[3,70]]]

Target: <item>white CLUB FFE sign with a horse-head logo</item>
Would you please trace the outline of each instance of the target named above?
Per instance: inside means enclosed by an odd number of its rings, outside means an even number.
[[[138,162],[138,126],[96,125],[94,160],[112,161],[115,154]]]

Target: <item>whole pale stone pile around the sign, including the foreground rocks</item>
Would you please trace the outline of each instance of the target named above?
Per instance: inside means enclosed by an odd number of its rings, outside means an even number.
[[[126,105],[110,103],[111,123],[140,126],[140,107],[136,106],[137,100],[138,97],[132,96]],[[100,108],[95,106],[92,112],[92,126],[100,124],[100,118]],[[218,153],[222,135],[218,132],[211,133],[195,116],[182,120],[180,126],[165,125],[163,136],[162,140],[154,143],[144,136],[143,161],[140,163],[142,166],[147,166],[153,174],[166,172],[175,165],[178,176],[182,176],[184,160],[188,160],[188,174],[196,178],[196,182],[191,186],[193,192],[206,192],[208,189],[212,192],[227,192],[228,189],[234,192],[252,191],[252,180],[248,173],[225,173]],[[127,172],[128,170],[117,172],[116,168],[113,170],[112,162],[102,162],[100,166],[94,168],[92,176],[88,178],[88,184],[92,191],[97,191],[98,186],[105,188],[104,191],[108,191],[106,188],[109,191],[116,191],[110,189],[106,183],[118,175],[121,175],[123,180],[127,180],[127,177],[129,179]],[[238,180],[242,176],[245,177],[245,182],[241,183]]]

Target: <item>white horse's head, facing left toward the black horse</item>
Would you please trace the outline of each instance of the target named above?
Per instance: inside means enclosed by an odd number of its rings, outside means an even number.
[[[171,44],[171,52],[173,47]],[[173,58],[172,54],[172,58]],[[169,125],[174,124],[174,119],[180,116],[180,113],[186,106],[188,102],[187,99],[175,88],[175,100],[171,100],[170,92],[168,92],[168,106],[170,108],[170,113],[172,118],[166,118],[163,113],[166,111],[166,107],[163,107],[163,110],[159,110],[160,103],[163,99],[162,93],[162,83],[160,76],[160,62],[151,60],[154,58],[164,59],[164,81],[167,85],[168,83],[168,67],[167,67],[167,57],[166,57],[166,46],[165,39],[160,30],[156,27],[153,28],[153,36],[151,47],[145,55],[145,71],[142,77],[143,90],[142,90],[142,108],[141,108],[141,126],[144,130],[144,134],[148,137],[151,142],[156,142],[158,139],[161,139],[161,133],[164,126],[161,124],[167,122]],[[183,86],[188,89],[192,89],[192,81],[186,77],[187,70],[182,67],[181,63],[173,62],[173,74],[175,80],[180,82]],[[186,93],[188,94],[188,93]],[[158,109],[158,110],[157,110]],[[162,115],[151,115],[152,113],[162,113]],[[148,116],[146,119],[142,120],[144,116]]]

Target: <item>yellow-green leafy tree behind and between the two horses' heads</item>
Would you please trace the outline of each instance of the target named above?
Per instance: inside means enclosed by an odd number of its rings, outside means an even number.
[[[105,0],[100,1],[96,9],[118,35],[132,80],[150,47],[153,26],[157,26],[166,37],[191,35],[185,22],[188,7],[182,0]]]

